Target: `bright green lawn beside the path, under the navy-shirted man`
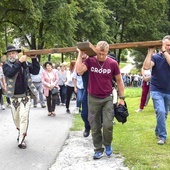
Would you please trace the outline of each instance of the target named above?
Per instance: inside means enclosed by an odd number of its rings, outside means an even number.
[[[157,145],[154,134],[155,113],[150,99],[143,112],[136,113],[139,107],[141,88],[126,88],[125,96],[129,117],[125,124],[114,125],[112,147],[114,153],[125,157],[125,165],[131,170],[170,169],[170,140],[165,145]],[[80,115],[75,115],[71,130],[83,129]],[[170,133],[170,120],[167,119],[167,132]]]

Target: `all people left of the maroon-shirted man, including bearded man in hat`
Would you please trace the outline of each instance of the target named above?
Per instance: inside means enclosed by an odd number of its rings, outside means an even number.
[[[75,107],[78,113],[82,108],[82,119],[85,121],[84,137],[90,134],[90,125],[87,120],[88,109],[82,106],[81,97],[84,94],[83,79],[77,81],[78,76],[75,70],[76,61],[71,61],[68,66],[61,63],[57,66],[50,61],[40,65],[36,56],[31,57],[32,62],[27,61],[27,56],[18,56],[21,49],[9,45],[5,54],[7,61],[0,67],[0,100],[4,106],[6,98],[7,106],[11,107],[12,116],[16,129],[18,130],[18,147],[27,147],[25,137],[27,136],[30,108],[47,108],[48,116],[55,116],[56,106],[61,105],[66,108],[66,113],[71,113],[69,109],[70,101],[76,100]],[[88,78],[88,77],[87,77]],[[79,83],[82,84],[81,94],[79,93]],[[57,92],[53,94],[53,89]],[[86,89],[87,93],[87,89]],[[83,102],[87,106],[86,102]],[[5,109],[5,106],[2,108]]]

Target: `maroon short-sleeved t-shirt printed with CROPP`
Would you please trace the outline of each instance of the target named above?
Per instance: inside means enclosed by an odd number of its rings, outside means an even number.
[[[99,62],[95,57],[84,61],[89,72],[88,93],[97,98],[105,98],[112,94],[112,79],[120,74],[117,61],[107,57]]]

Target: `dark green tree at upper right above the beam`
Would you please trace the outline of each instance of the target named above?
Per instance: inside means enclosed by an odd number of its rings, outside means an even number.
[[[112,11],[108,21],[111,43],[159,40],[170,26],[167,0],[108,0],[107,6]],[[114,50],[119,61],[121,51]]]

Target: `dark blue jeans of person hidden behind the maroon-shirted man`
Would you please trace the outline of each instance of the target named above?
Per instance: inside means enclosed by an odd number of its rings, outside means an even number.
[[[90,130],[90,124],[88,121],[88,102],[87,102],[87,90],[83,90],[82,96],[82,111],[81,111],[81,118],[84,121],[84,127],[86,130]]]

